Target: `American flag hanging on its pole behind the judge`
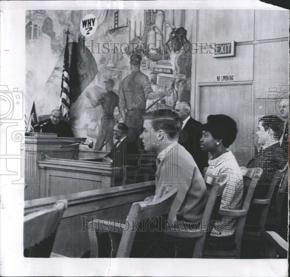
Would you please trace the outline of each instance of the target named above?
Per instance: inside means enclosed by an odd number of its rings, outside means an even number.
[[[64,67],[62,70],[62,78],[61,78],[61,93],[59,99],[59,110],[62,112],[62,116],[69,118],[70,111],[70,99],[69,99],[69,56],[68,56],[68,35],[69,31],[66,32],[66,48],[64,50]]]

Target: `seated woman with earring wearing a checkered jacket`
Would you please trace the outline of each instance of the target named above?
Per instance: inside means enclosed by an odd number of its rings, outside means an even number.
[[[211,173],[215,176],[227,174],[229,176],[229,181],[222,194],[220,208],[239,209],[242,205],[243,177],[233,153],[226,150],[235,141],[238,133],[237,124],[227,115],[209,115],[202,130],[200,147],[204,152],[211,154],[206,174]],[[218,217],[216,228],[211,232],[207,241],[213,246],[233,246],[235,224],[236,219],[233,217]]]

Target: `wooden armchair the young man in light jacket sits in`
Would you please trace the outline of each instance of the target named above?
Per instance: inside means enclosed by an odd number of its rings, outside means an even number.
[[[209,228],[209,221],[211,219],[211,214],[213,212],[213,207],[215,205],[218,195],[222,195],[226,182],[228,181],[229,176],[222,174],[220,176],[214,176],[212,174],[206,174],[205,183],[209,190],[209,197],[206,202],[204,213],[202,216],[202,226],[198,226],[195,230],[192,228],[180,228],[182,222],[177,221],[176,226],[172,230],[166,231],[165,235],[172,237],[182,237],[182,238],[195,238],[195,246],[193,251],[193,258],[202,258],[203,246],[206,236],[206,231]],[[178,258],[178,257],[176,257]]]

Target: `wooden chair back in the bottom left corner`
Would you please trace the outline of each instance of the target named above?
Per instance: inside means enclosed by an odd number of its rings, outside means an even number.
[[[33,212],[24,216],[24,257],[50,257],[59,222],[67,207],[67,200],[60,200],[51,209]]]

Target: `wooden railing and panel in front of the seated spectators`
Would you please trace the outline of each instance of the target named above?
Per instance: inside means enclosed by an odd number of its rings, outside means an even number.
[[[68,201],[55,238],[53,253],[67,257],[81,257],[90,250],[86,223],[96,219],[126,219],[132,203],[143,201],[154,195],[155,182],[110,187],[27,200],[24,203],[24,215],[53,207],[61,199]],[[93,218],[90,218],[93,217]]]

